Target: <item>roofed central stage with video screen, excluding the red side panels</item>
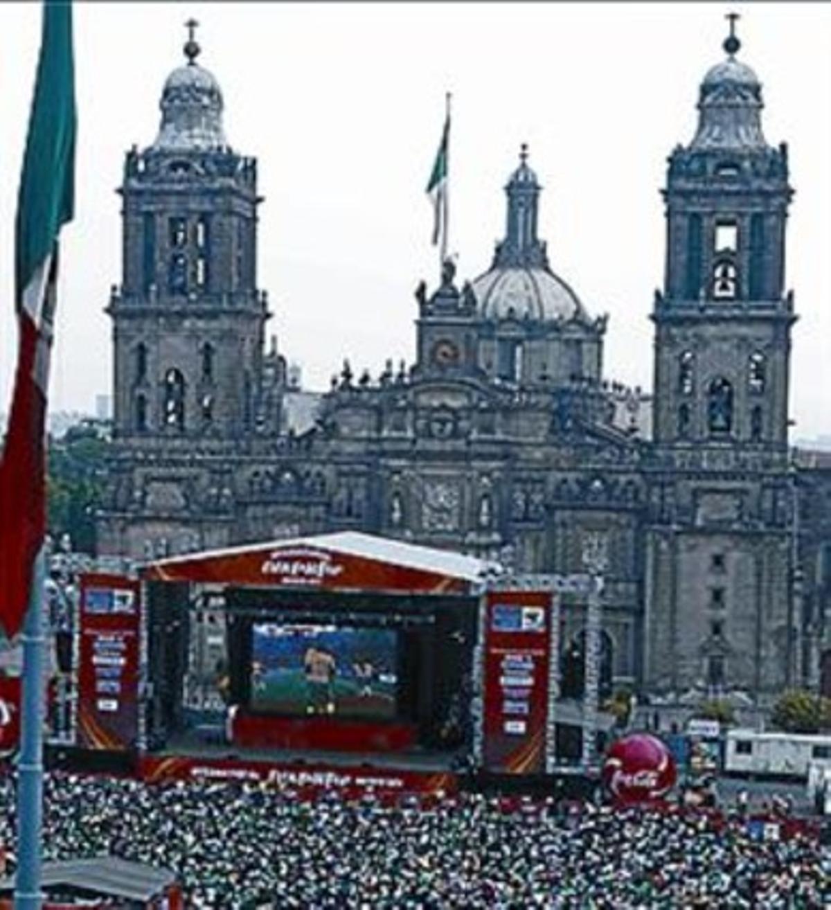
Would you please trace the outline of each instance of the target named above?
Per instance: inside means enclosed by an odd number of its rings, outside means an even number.
[[[353,533],[143,567],[137,773],[455,789],[486,568]]]

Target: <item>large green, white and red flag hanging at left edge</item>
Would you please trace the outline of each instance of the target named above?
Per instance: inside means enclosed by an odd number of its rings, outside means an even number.
[[[73,216],[76,108],[72,7],[45,3],[15,221],[17,366],[0,456],[0,624],[23,624],[46,534],[46,390],[56,304],[57,240]]]

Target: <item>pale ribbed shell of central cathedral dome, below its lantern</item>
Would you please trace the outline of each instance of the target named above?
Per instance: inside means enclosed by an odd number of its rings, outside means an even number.
[[[547,268],[492,268],[472,282],[481,319],[586,318],[572,288]]]

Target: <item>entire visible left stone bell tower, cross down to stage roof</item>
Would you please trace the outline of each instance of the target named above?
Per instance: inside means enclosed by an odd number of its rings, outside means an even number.
[[[158,135],[127,152],[118,189],[123,275],[106,310],[114,447],[98,522],[105,553],[227,542],[228,451],[279,428],[271,381],[279,358],[263,354],[269,312],[257,288],[257,162],[228,145],[218,82],[197,62],[196,25],[187,23],[186,62],[162,90]]]

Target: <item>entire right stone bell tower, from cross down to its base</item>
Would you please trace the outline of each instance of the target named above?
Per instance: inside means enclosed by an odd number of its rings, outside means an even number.
[[[669,157],[656,292],[647,679],[684,698],[764,706],[796,677],[787,466],[790,334],[785,144],[736,59],[704,76],[698,126]],[[744,699],[744,702],[742,701]]]

